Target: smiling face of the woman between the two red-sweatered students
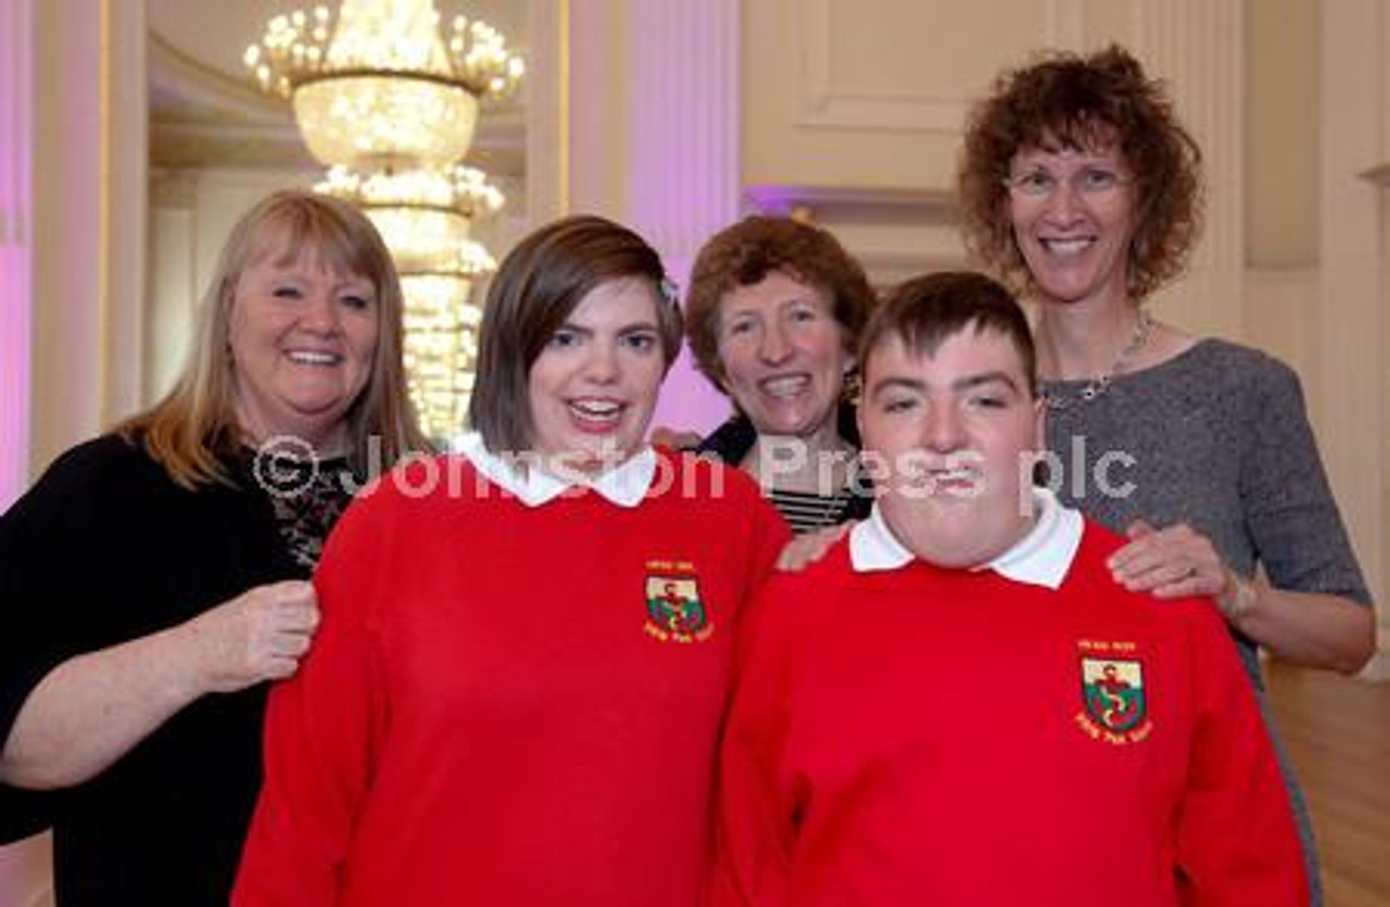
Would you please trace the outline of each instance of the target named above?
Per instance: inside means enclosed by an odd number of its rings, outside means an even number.
[[[781,271],[735,288],[719,307],[719,358],[759,435],[835,432],[849,353],[823,290]]]

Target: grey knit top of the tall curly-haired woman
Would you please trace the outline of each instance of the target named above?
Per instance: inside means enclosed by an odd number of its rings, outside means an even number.
[[[1371,603],[1291,368],[1201,340],[1093,400],[1086,383],[1044,382],[1061,407],[1047,411],[1047,479],[1063,501],[1116,532],[1183,521],[1238,574],[1258,563],[1279,589]]]

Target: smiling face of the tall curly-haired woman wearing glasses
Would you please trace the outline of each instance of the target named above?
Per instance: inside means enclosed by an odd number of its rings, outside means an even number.
[[[1020,149],[1009,169],[1008,206],[1013,239],[1042,301],[1126,299],[1138,213],[1133,175],[1113,143]]]

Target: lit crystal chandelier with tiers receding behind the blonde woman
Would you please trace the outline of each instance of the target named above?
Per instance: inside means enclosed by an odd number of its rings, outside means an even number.
[[[343,0],[336,19],[325,7],[271,19],[246,65],[261,90],[293,104],[304,143],[328,167],[316,189],[361,207],[391,247],[411,397],[431,436],[453,436],[473,388],[473,282],[496,267],[470,232],[503,203],[460,161],[480,101],[513,92],[521,60],[461,15],[445,40],[432,0]]]

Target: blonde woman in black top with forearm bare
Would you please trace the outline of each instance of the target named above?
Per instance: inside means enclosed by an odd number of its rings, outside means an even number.
[[[424,446],[400,315],[360,211],[265,199],[174,390],[0,517],[0,840],[53,826],[61,907],[227,904],[309,572],[366,475]]]

